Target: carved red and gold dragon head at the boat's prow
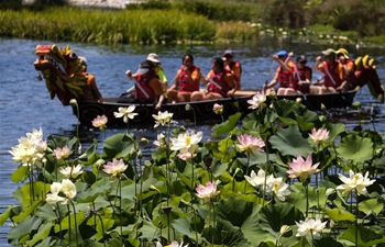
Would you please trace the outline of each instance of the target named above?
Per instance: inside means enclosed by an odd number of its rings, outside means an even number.
[[[64,105],[68,105],[72,99],[80,100],[87,75],[84,74],[84,66],[70,47],[37,45],[35,54],[37,59],[33,65],[42,72],[51,99],[57,96]]]

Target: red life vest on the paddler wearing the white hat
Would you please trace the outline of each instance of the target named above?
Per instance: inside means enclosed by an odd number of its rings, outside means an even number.
[[[148,85],[148,82],[154,78],[157,78],[157,79],[160,78],[155,71],[151,71],[145,77],[144,76],[136,77],[135,100],[145,101],[150,103],[153,103],[155,101],[155,92]]]

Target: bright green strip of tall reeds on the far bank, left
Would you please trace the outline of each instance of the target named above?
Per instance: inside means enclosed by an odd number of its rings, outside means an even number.
[[[0,36],[108,44],[212,42],[217,24],[177,10],[1,11]]]

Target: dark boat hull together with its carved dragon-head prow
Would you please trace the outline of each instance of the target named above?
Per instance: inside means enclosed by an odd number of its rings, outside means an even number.
[[[45,80],[46,88],[51,94],[51,99],[55,97],[63,105],[69,105],[72,99],[77,100],[77,105],[73,105],[73,112],[81,124],[90,125],[91,121],[98,115],[106,115],[109,125],[123,125],[122,119],[117,119],[113,112],[118,112],[119,108],[130,106],[124,98],[105,98],[103,102],[84,101],[84,87],[87,83],[87,74],[79,58],[70,49],[56,45],[37,45],[35,49],[37,59],[34,61],[36,70],[41,71],[43,77],[38,79]],[[301,98],[304,104],[311,110],[320,110],[323,104],[330,108],[351,106],[355,93],[360,87],[346,92],[323,93],[323,94],[301,94],[301,96],[277,96],[280,100],[297,100]],[[230,115],[241,112],[246,114],[252,110],[249,108],[250,100],[255,90],[237,91],[233,98],[208,100],[187,103],[165,103],[160,111],[168,111],[174,113],[174,120],[189,120],[197,122],[215,123],[222,117],[228,119]],[[223,113],[218,115],[213,112],[213,105],[218,103],[223,105]],[[134,104],[135,112],[139,113],[130,124],[152,124],[154,123],[153,114],[157,114],[154,104]]]

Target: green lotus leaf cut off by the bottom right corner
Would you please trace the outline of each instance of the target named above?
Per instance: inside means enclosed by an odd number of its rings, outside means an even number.
[[[358,232],[358,239],[355,243]],[[344,231],[341,236],[338,238],[339,242],[348,242],[348,245],[355,245],[360,247],[371,247],[376,244],[385,243],[385,235],[382,233],[375,233],[373,229],[365,227],[363,225],[352,224],[346,231]]]

